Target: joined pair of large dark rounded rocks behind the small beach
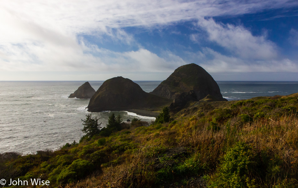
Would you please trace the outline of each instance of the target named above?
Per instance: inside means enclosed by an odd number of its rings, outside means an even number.
[[[91,97],[88,111],[134,111],[140,115],[158,111],[170,105],[172,111],[179,111],[191,101],[227,101],[222,97],[219,86],[206,70],[196,64],[178,67],[154,91],[147,93],[133,81],[121,76],[111,78]],[[145,113],[144,113],[145,112]]]

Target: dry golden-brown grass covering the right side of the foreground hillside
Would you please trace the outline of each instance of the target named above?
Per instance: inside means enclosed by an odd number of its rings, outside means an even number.
[[[126,161],[117,166],[103,168],[100,175],[93,175],[77,183],[65,185],[70,188],[91,187],[150,187],[154,185],[154,169],[146,165],[148,148],[187,146],[192,154],[198,154],[201,164],[208,164],[210,173],[219,164],[219,159],[236,142],[251,144],[259,151],[282,160],[280,173],[272,177],[269,187],[277,179],[298,177],[298,118],[294,115],[281,118],[267,118],[241,123],[239,118],[231,118],[228,122],[219,124],[220,130],[208,130],[209,121],[200,121],[200,118],[191,117],[180,120],[174,125],[164,124],[162,131],[149,130],[149,133],[135,134],[134,138],[142,143],[135,154],[127,156]],[[134,132],[134,131],[132,131]],[[154,136],[155,133],[158,136]],[[136,136],[138,135],[138,136]],[[161,137],[160,141],[156,137]],[[155,145],[153,145],[155,144]],[[273,159],[272,159],[273,160]],[[152,171],[153,170],[153,171]]]

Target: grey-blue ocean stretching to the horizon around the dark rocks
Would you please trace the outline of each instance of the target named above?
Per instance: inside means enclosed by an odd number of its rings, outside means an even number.
[[[161,81],[135,81],[141,88],[153,91]],[[83,136],[81,119],[87,112],[89,99],[69,99],[83,81],[1,81],[0,82],[0,153],[35,153],[43,149],[59,149]],[[103,81],[90,81],[97,90]],[[217,82],[227,100],[258,96],[289,95],[298,92],[298,82]],[[131,112],[96,112],[102,125],[108,117],[120,114],[123,120],[155,118]]]

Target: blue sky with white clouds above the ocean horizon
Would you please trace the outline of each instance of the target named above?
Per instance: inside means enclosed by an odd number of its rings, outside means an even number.
[[[1,0],[0,81],[298,81],[296,0]]]

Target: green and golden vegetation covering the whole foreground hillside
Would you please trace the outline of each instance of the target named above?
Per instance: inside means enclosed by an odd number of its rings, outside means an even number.
[[[176,114],[165,107],[152,125],[113,114],[96,134],[90,115],[79,144],[0,154],[0,179],[40,177],[62,188],[295,188],[297,107],[297,96],[198,102]]]

